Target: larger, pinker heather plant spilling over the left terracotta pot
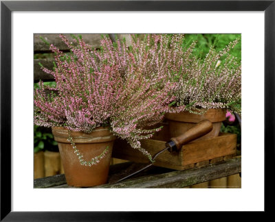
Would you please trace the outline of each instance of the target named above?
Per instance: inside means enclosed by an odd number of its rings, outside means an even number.
[[[113,43],[104,37],[101,49],[96,50],[81,38],[69,42],[60,37],[72,53],[50,46],[55,53],[55,69],[42,69],[54,76],[56,87],[47,88],[40,82],[34,90],[34,124],[87,133],[109,125],[115,136],[126,139],[151,160],[140,140],[150,138],[161,127],[144,128],[161,121],[175,100],[171,92],[176,84],[168,79],[163,58],[154,49],[148,50],[150,42],[133,42],[128,49],[126,42]],[[155,44],[158,38],[152,38]],[[53,93],[48,95],[47,90]]]

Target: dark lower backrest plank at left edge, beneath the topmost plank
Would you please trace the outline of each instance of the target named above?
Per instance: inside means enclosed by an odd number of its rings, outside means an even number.
[[[43,64],[43,66],[47,69],[53,70],[54,68],[54,59],[39,59],[34,60],[34,82],[39,82],[41,79],[43,82],[51,82],[54,81],[54,76],[45,73],[39,63]]]

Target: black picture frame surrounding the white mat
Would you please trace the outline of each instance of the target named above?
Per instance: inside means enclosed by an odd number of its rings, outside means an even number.
[[[270,1],[1,1],[1,221],[162,221],[175,212],[11,211],[11,13],[13,11],[264,11],[265,212],[272,210],[275,156],[275,2]],[[256,134],[256,132],[255,132]],[[256,160],[255,160],[256,164]],[[271,173],[269,173],[269,171]],[[255,175],[256,177],[256,175]],[[273,194],[273,195],[272,195]],[[146,200],[144,200],[146,201]],[[148,199],[150,201],[150,199]],[[153,203],[152,203],[153,204]],[[166,203],[167,204],[167,203]],[[167,214],[166,214],[167,213]],[[165,215],[164,215],[165,214]],[[179,214],[179,212],[177,212]],[[180,216],[179,216],[180,217]],[[175,215],[173,215],[175,218]]]

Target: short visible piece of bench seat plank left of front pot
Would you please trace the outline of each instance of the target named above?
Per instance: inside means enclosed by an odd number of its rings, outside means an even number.
[[[61,184],[66,184],[66,179],[64,174],[58,174],[51,177],[43,177],[34,180],[34,188],[49,188],[52,186],[58,186]]]

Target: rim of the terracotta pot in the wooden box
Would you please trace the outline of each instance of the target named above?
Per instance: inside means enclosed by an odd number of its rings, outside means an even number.
[[[216,123],[225,121],[225,111],[226,109],[209,109],[201,115],[183,111],[178,113],[166,113],[165,118],[171,121],[185,123],[199,123],[200,121],[208,119],[212,123]]]

